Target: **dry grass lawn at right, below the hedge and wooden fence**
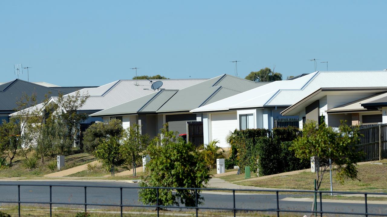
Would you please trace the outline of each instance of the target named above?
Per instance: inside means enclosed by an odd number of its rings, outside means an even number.
[[[386,160],[380,161],[386,163]],[[363,164],[358,165],[359,180],[346,180],[344,184],[339,183],[334,177],[336,171],[333,171],[333,190],[336,191],[370,191],[387,192],[387,164]],[[238,185],[258,186],[267,188],[290,188],[313,190],[316,174],[312,172],[302,172],[296,175],[276,176],[262,180],[251,180],[238,182]],[[220,178],[227,178],[226,176]],[[230,180],[236,181],[234,180]],[[320,190],[330,190],[329,171],[325,173],[324,180]]]

